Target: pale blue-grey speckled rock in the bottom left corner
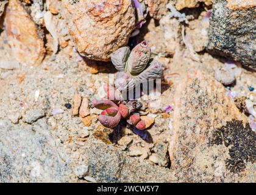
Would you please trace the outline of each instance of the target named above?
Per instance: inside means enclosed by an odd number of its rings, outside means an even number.
[[[12,128],[10,125],[0,122],[0,182],[69,181],[69,162],[60,158],[60,148],[48,127],[35,132],[27,124]]]

